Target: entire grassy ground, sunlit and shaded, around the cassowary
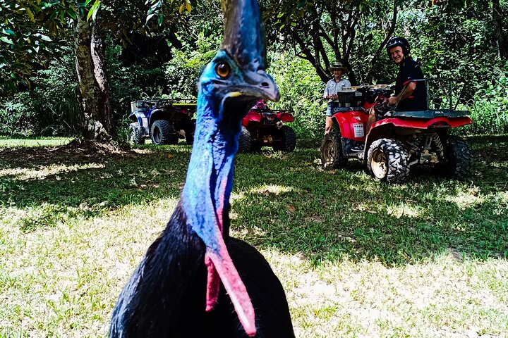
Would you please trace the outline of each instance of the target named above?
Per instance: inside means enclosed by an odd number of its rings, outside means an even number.
[[[508,137],[468,141],[466,180],[394,186],[323,171],[313,142],[237,156],[232,234],[270,261],[297,337],[508,337]],[[105,337],[191,148],[1,144],[0,337]]]

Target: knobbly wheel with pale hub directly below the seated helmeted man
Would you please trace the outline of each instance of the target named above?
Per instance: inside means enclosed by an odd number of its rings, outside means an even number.
[[[409,174],[409,154],[397,139],[378,139],[367,153],[367,169],[375,180],[402,183]]]

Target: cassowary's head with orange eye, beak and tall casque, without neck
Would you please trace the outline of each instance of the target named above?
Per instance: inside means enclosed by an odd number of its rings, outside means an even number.
[[[219,122],[238,125],[258,99],[279,100],[279,91],[265,73],[265,35],[257,0],[223,0],[225,27],[221,49],[203,70],[200,92],[213,104]],[[238,130],[235,130],[237,132]]]

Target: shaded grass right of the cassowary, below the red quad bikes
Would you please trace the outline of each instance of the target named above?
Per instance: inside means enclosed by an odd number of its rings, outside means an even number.
[[[508,143],[506,137],[485,142],[473,144],[475,164],[466,180],[416,170],[394,186],[371,180],[358,161],[322,172],[289,155],[262,173],[243,175],[255,179],[236,181],[243,196],[234,201],[233,225],[256,230],[248,232],[249,242],[304,253],[315,264],[347,256],[400,265],[440,253],[507,258]],[[237,177],[255,168],[241,161]],[[256,181],[267,187],[251,189]]]

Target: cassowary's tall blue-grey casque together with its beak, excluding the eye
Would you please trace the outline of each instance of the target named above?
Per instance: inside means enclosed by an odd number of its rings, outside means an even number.
[[[279,89],[266,69],[265,32],[258,0],[223,0],[224,39],[222,49],[241,68],[248,87],[242,94],[279,101]]]

